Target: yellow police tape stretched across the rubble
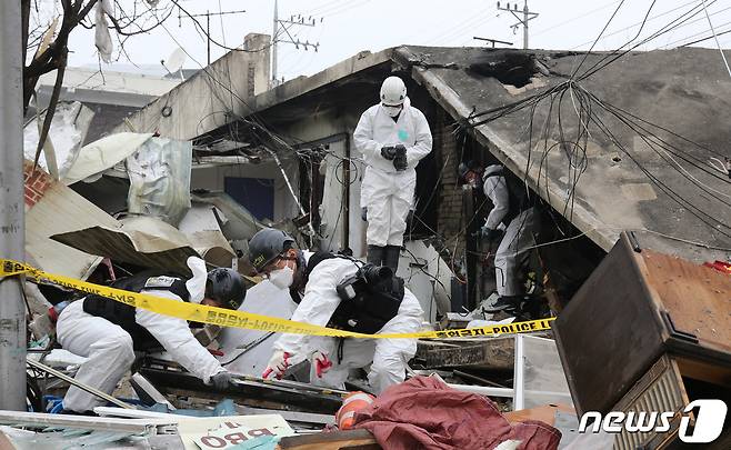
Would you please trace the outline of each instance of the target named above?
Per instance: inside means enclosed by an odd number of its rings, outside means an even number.
[[[36,282],[44,282],[74,289],[81,292],[107,297],[114,301],[142,308],[159,314],[170,316],[191,322],[211,323],[220,327],[236,327],[248,330],[259,330],[278,333],[329,336],[337,338],[363,338],[363,339],[402,339],[402,338],[465,338],[473,336],[511,334],[530,331],[550,330],[550,322],[554,318],[530,320],[525,322],[513,322],[502,326],[490,326],[461,330],[421,331],[414,333],[393,334],[364,334],[346,330],[336,330],[304,322],[280,319],[276,317],[254,314],[246,311],[232,311],[224,308],[207,307],[203,304],[181,302],[177,300],[157,297],[149,293],[137,293],[108,286],[94,284],[77,280],[70,277],[44,272],[22,262],[0,259],[0,277],[27,274]]]

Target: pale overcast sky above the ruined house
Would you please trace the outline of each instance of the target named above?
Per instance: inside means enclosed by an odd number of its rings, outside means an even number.
[[[715,31],[721,33],[731,30],[731,1],[705,2]],[[131,4],[133,0],[120,0],[120,3]],[[597,49],[614,49],[632,39],[651,3],[651,0],[625,0],[604,32],[604,39],[598,42]],[[641,38],[701,3],[701,0],[658,0],[650,11]],[[249,32],[272,32],[273,0],[180,0],[180,4],[194,14],[246,10],[246,13],[211,17],[211,36],[231,47],[240,44]],[[515,4],[514,0],[510,4]],[[530,47],[588,49],[619,4],[620,1],[602,0],[531,0],[530,10],[539,16],[529,23]],[[171,0],[160,0],[159,7],[166,6],[172,7]],[[504,6],[504,2],[501,6]],[[523,3],[518,6],[522,10]],[[472,39],[473,36],[480,36],[510,41],[517,48],[522,47],[522,28],[513,33],[511,26],[517,22],[515,18],[510,12],[498,11],[494,1],[280,0],[280,18],[289,18],[292,14],[312,16],[317,19],[316,27],[292,27],[290,32],[302,41],[319,42],[320,49],[316,53],[311,49],[297,50],[292,44],[280,43],[279,74],[287,79],[316,73],[361,50],[378,51],[402,43],[481,47],[484,46],[483,42]],[[206,26],[204,17],[199,20]],[[707,36],[711,36],[710,27],[705,14],[701,12],[640,49],[673,48]],[[159,61],[168,59],[178,48],[176,40],[197,61],[188,58],[186,68],[199,68],[199,64],[206,63],[204,37],[197,32],[190,19],[183,17],[179,23],[177,9],[164,22],[164,28],[132,37],[124,48],[132,63],[159,67]],[[725,48],[731,44],[731,33],[720,36],[719,40]],[[711,39],[699,46],[714,48],[715,42]],[[69,47],[72,51],[70,66],[99,63],[93,46],[93,30],[78,27]],[[226,52],[214,44],[211,49],[212,60]],[[114,57],[117,56],[116,51]],[[123,67],[120,64],[129,67],[130,61],[122,54],[117,64],[102,64],[102,68],[117,70]]]

